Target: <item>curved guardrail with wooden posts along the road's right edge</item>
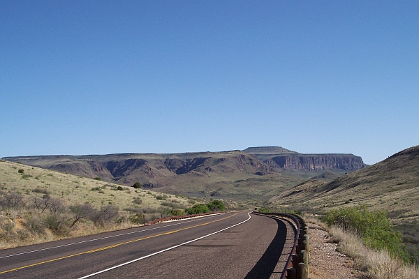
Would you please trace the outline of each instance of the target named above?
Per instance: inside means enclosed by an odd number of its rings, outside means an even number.
[[[307,227],[304,220],[300,216],[291,213],[263,213],[257,211],[253,211],[253,213],[288,218],[295,223],[293,249],[286,261],[281,279],[309,279],[309,227]]]

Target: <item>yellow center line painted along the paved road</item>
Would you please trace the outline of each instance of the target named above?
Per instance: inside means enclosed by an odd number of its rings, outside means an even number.
[[[114,244],[114,245],[111,245],[111,246],[105,246],[105,247],[103,247],[103,248],[97,248],[97,249],[94,249],[94,250],[88,250],[88,251],[85,251],[85,252],[80,252],[80,253],[73,254],[73,255],[68,255],[68,256],[65,256],[65,257],[58,257],[58,258],[56,258],[56,259],[50,259],[50,260],[47,260],[47,261],[45,261],[45,262],[38,262],[38,263],[36,263],[36,264],[29,264],[29,265],[27,265],[27,266],[17,267],[16,269],[9,269],[9,270],[7,270],[7,271],[1,271],[1,272],[0,272],[0,274],[3,274],[3,273],[8,273],[8,272],[11,272],[11,271],[18,271],[18,270],[20,270],[20,269],[27,269],[28,267],[31,267],[31,266],[38,266],[38,265],[41,265],[41,264],[47,264],[47,263],[49,263],[49,262],[57,262],[57,261],[59,261],[60,259],[68,259],[69,257],[75,257],[75,256],[80,256],[80,255],[86,255],[86,254],[93,253],[93,252],[98,252],[98,251],[108,250],[108,249],[110,249],[110,248],[116,248],[116,247],[119,247],[119,246],[122,246],[122,245],[125,245],[125,244],[129,244],[129,243],[136,242],[136,241],[142,241],[142,240],[145,240],[145,239],[152,239],[152,238],[157,237],[157,236],[164,236],[164,235],[167,235],[167,234],[175,234],[176,232],[182,232],[182,231],[184,231],[185,229],[193,229],[194,227],[202,227],[202,226],[205,226],[205,225],[209,225],[209,224],[211,224],[211,223],[219,222],[219,221],[221,221],[221,220],[226,220],[227,218],[233,217],[233,216],[235,216],[236,214],[237,214],[237,213],[234,213],[232,216],[227,216],[227,217],[225,217],[225,218],[221,218],[221,219],[219,219],[219,220],[214,220],[214,221],[211,221],[211,222],[203,223],[203,224],[200,224],[200,225],[194,225],[194,226],[191,226],[191,227],[185,227],[185,228],[183,228],[183,229],[176,229],[176,230],[174,230],[174,231],[170,231],[170,232],[163,232],[163,233],[161,233],[161,234],[154,234],[154,235],[152,235],[152,236],[142,237],[141,239],[134,239],[134,240],[131,240],[131,241],[126,241],[126,242],[122,242],[122,243]]]

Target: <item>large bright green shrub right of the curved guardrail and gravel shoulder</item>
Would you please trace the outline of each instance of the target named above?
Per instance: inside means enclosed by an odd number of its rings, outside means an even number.
[[[393,230],[385,211],[371,212],[367,206],[360,209],[348,207],[329,211],[323,220],[330,226],[355,232],[365,245],[373,249],[388,250],[392,256],[406,259],[402,234]]]

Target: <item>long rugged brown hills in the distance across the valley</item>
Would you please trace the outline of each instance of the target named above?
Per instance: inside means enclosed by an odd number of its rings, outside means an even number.
[[[260,153],[270,156],[271,159],[263,162],[257,157]],[[300,154],[282,147],[253,147],[245,151],[225,152],[123,153],[3,159],[78,176],[100,177],[103,181],[125,186],[139,181],[145,188],[158,189],[163,193],[257,200],[269,199],[311,176],[323,173],[328,167],[332,167],[331,170],[337,174],[356,169],[344,165],[344,160],[335,158],[333,154],[327,156],[324,164],[320,163],[315,168],[281,168],[277,163],[272,163],[275,162],[278,153]],[[358,160],[356,156],[345,156],[351,160]],[[340,162],[340,165],[329,164],[330,160]],[[362,159],[360,161],[362,162]],[[346,166],[344,169],[348,170],[342,169],[343,165]]]

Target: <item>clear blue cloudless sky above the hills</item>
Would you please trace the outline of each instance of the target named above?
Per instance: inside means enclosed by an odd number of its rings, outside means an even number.
[[[419,1],[0,1],[0,158],[419,144]]]

